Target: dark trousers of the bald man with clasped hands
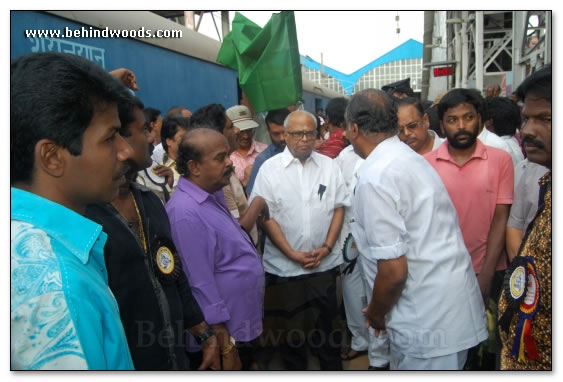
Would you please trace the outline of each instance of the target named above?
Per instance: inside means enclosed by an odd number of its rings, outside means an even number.
[[[296,277],[266,273],[262,345],[278,347],[286,370],[307,370],[307,346],[321,370],[342,370],[338,314],[338,269]]]

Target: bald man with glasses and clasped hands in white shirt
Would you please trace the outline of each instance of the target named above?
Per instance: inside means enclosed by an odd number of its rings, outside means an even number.
[[[332,321],[342,263],[337,240],[350,197],[338,165],[313,152],[316,118],[295,111],[284,127],[287,147],[264,162],[250,196],[262,197],[271,217],[264,223],[265,335],[280,333],[269,323],[282,322],[287,370],[306,370],[305,344],[318,349],[322,370],[341,370]]]

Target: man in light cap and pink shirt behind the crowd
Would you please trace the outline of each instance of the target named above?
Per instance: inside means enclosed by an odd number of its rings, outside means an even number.
[[[258,154],[268,145],[254,139],[254,129],[258,127],[246,106],[237,105],[227,109],[227,116],[233,121],[235,128],[240,130],[238,148],[230,155],[237,178],[244,187],[248,184],[252,165]]]

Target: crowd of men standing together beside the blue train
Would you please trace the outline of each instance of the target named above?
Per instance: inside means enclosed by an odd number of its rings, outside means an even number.
[[[13,60],[11,368],[550,370],[551,83],[161,115]]]

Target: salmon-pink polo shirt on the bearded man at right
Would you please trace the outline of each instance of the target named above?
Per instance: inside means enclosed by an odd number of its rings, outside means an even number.
[[[459,227],[479,274],[487,253],[487,238],[497,204],[512,204],[514,167],[510,155],[477,140],[475,152],[462,167],[450,156],[448,141],[424,155],[442,178],[457,210]],[[496,270],[506,269],[501,256]]]

